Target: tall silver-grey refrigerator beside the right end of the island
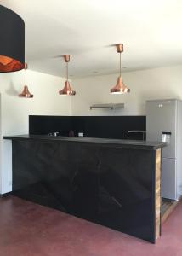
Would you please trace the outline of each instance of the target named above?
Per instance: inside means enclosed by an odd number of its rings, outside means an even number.
[[[179,200],[182,195],[182,101],[146,102],[146,140],[164,141],[162,148],[162,197]]]

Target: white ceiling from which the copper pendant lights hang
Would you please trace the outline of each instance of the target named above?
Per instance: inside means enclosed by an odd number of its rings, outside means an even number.
[[[182,0],[0,0],[26,23],[29,68],[73,78],[182,64]],[[123,68],[125,67],[125,68]]]

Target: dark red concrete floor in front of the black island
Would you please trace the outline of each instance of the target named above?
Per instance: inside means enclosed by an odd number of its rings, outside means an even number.
[[[0,256],[182,256],[182,203],[156,245],[14,196],[0,199]]]

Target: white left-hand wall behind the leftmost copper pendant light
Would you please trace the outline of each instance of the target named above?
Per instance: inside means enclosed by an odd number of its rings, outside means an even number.
[[[24,71],[0,74],[1,93],[1,172],[0,194],[9,192],[12,183],[11,141],[4,135],[28,133],[28,115],[70,115],[71,97],[60,96],[58,91],[65,79],[44,73],[27,71],[27,85],[34,97],[20,98],[25,84]]]

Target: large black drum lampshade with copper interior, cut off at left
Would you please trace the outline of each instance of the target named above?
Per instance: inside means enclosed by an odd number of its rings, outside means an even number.
[[[24,68],[25,23],[12,10],[0,5],[0,72]]]

